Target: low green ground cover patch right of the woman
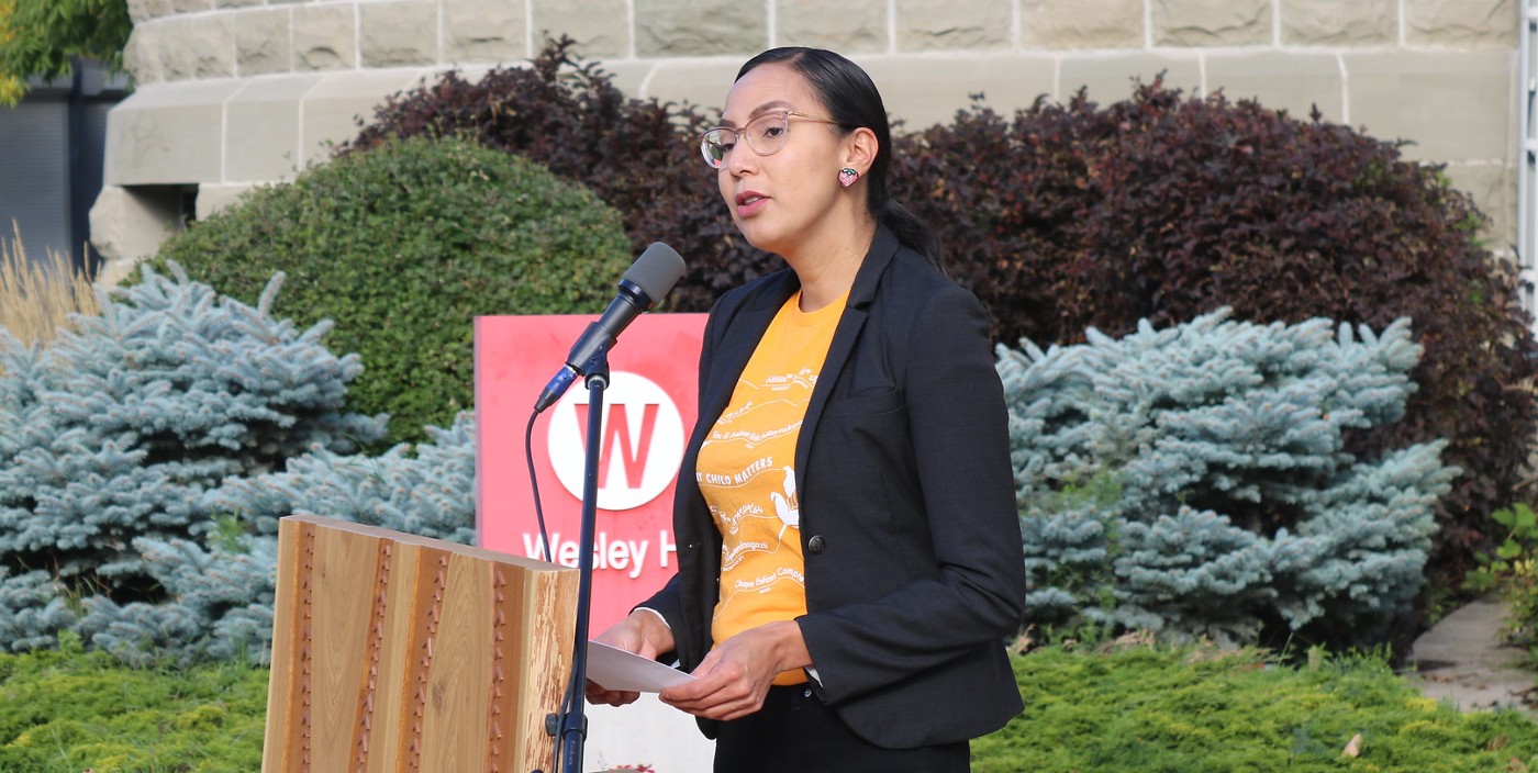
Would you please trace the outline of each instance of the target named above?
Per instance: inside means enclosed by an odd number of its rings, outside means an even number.
[[[1524,713],[1427,699],[1370,656],[1286,667],[1260,650],[1049,647],[1015,659],[1026,712],[975,773],[1490,773],[1538,767]],[[1343,756],[1361,735],[1360,756]]]

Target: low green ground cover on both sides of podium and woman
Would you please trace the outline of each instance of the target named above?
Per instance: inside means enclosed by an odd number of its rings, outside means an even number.
[[[1373,656],[1047,647],[1015,673],[1026,712],[972,744],[975,773],[1538,770],[1527,715],[1421,698]],[[255,771],[266,687],[261,668],[135,670],[71,641],[0,655],[0,771]]]

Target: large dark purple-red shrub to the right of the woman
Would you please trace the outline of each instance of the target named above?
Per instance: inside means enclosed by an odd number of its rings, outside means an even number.
[[[1438,573],[1489,541],[1513,501],[1535,406],[1533,341],[1484,217],[1403,143],[1160,81],[1098,106],[983,106],[898,140],[894,198],[935,224],[950,270],[994,315],[995,340],[1070,344],[1218,307],[1241,320],[1413,321],[1424,357],[1401,421],[1346,447],[1447,438],[1463,475],[1438,503]]]

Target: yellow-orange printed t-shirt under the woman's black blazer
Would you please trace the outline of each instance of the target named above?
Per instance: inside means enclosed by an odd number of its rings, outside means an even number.
[[[806,613],[795,441],[844,298],[815,312],[803,312],[800,301],[797,292],[775,314],[700,446],[695,481],[721,532],[721,596],[711,622],[717,642]],[[775,678],[804,681],[800,670]]]

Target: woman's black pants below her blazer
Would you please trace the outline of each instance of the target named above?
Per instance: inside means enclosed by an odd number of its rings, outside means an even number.
[[[921,712],[923,707],[914,707]],[[755,715],[721,722],[715,773],[967,773],[966,741],[883,748],[857,736],[809,688],[771,687]]]

